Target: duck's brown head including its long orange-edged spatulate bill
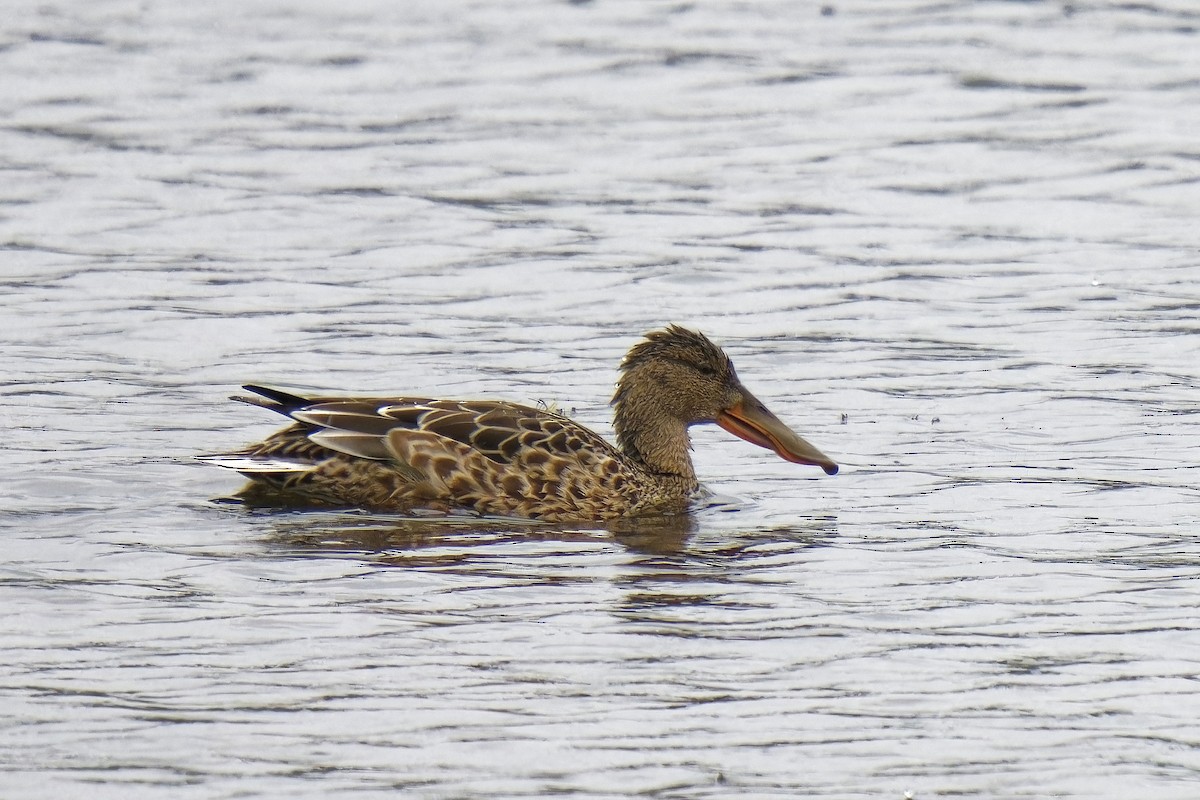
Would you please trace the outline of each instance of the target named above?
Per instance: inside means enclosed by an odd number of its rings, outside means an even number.
[[[614,428],[622,450],[650,461],[646,428],[682,428],[715,422],[733,435],[828,475],[838,464],[802,439],[742,385],[733,362],[700,332],[678,325],[653,331],[620,365],[613,395]]]

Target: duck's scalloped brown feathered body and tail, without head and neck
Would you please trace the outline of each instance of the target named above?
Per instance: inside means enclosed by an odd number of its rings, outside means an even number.
[[[577,422],[516,403],[290,397],[250,401],[296,425],[228,453],[251,479],[248,501],[556,522],[680,511],[696,488],[654,480]],[[246,468],[256,461],[262,469]]]

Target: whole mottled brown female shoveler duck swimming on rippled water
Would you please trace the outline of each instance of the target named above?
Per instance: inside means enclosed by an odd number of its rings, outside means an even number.
[[[504,401],[235,397],[294,423],[204,461],[242,473],[251,504],[437,509],[546,519],[684,511],[700,483],[688,427],[716,422],[797,464],[838,465],[779,421],[704,335],[677,325],[625,356],[612,404],[617,446],[550,410]]]

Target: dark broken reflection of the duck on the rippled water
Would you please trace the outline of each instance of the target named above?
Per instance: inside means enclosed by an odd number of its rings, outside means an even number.
[[[736,604],[736,585],[769,583],[766,571],[803,565],[805,552],[833,541],[834,517],[793,524],[731,527],[703,511],[622,519],[595,528],[468,516],[366,513],[274,515],[268,546],[304,558],[366,557],[388,567],[430,569],[526,585],[607,581],[622,589],[612,610]],[[720,524],[716,524],[720,523]]]

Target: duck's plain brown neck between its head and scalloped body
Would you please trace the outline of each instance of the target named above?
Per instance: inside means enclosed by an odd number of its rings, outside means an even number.
[[[617,446],[647,471],[696,483],[688,426],[666,410],[653,393],[636,384],[619,386],[613,399],[612,427]]]

